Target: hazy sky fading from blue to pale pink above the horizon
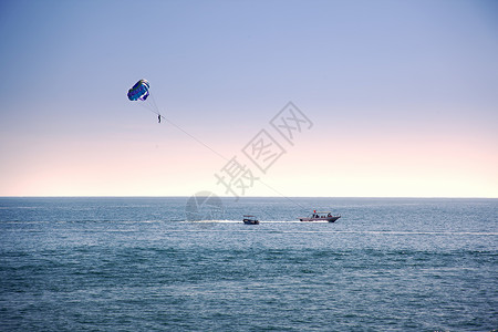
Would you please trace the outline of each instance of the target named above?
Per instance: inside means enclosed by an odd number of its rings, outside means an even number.
[[[20,0],[0,31],[0,196],[498,198],[496,1]]]

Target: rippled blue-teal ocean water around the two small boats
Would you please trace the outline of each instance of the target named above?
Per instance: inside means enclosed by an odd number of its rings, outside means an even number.
[[[0,331],[498,329],[497,199],[194,208],[198,218],[187,197],[0,198]],[[313,209],[342,217],[297,221]]]

